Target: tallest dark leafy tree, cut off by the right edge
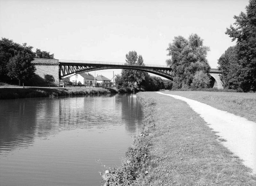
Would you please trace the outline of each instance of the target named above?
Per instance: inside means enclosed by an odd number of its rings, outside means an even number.
[[[256,91],[256,1],[250,0],[245,9],[246,13],[234,16],[234,26],[226,34],[236,40],[238,85],[247,92]]]

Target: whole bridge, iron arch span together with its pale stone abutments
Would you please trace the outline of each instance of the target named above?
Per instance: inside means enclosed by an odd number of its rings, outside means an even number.
[[[59,60],[59,59],[40,59],[35,58],[31,62],[36,67],[36,75],[44,78],[46,74],[53,75],[55,85],[59,86],[60,79],[67,78],[76,74],[105,70],[105,69],[130,69],[145,71],[158,76],[172,80],[172,69],[170,66],[165,65],[145,65],[145,66],[132,66],[125,63],[113,62],[99,62],[99,61],[76,61],[76,60]],[[213,87],[223,88],[220,81],[221,71],[218,69],[211,69],[210,76]]]

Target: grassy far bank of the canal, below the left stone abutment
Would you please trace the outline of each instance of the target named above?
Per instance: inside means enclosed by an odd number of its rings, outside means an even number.
[[[26,87],[0,88],[0,99],[17,99],[17,98],[36,98],[36,97],[52,97],[52,96],[73,96],[88,94],[106,94],[117,93],[112,88],[97,87],[70,87],[70,88],[46,88],[46,87]]]

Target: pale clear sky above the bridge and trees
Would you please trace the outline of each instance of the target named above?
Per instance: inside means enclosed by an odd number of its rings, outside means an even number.
[[[197,33],[212,68],[229,46],[225,34],[248,0],[0,0],[0,37],[54,53],[56,59],[165,65],[175,36]],[[108,78],[120,70],[96,71]],[[94,73],[93,73],[94,74]]]

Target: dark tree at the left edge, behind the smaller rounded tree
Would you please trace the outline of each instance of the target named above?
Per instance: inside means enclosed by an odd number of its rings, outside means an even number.
[[[27,46],[26,43],[22,45],[13,42],[12,40],[2,38],[0,40],[0,79],[4,81],[9,81],[10,78],[8,74],[8,63],[10,59],[17,55],[19,52],[27,54],[30,57],[34,57],[35,54],[32,52],[31,46]],[[32,64],[31,64],[32,65]]]

